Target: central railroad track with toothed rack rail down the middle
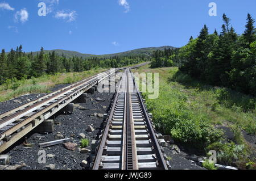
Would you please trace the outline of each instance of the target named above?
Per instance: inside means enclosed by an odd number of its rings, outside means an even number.
[[[93,170],[168,169],[130,69],[119,82]]]

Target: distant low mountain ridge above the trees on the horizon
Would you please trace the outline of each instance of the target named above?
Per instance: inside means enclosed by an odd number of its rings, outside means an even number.
[[[133,56],[133,55],[148,55],[150,56],[155,50],[164,50],[164,49],[175,49],[175,47],[171,46],[163,46],[163,47],[148,47],[148,48],[139,48],[139,49],[134,49],[134,50],[129,50],[126,52],[120,52],[120,53],[113,53],[113,54],[102,54],[102,55],[96,55],[96,54],[86,54],[86,53],[80,53],[80,52],[75,52],[71,50],[62,50],[62,49],[54,49],[54,50],[44,50],[44,53],[49,53],[55,51],[56,54],[61,56],[64,54],[65,57],[71,58],[71,57],[82,57],[82,58],[89,58],[89,57],[114,57],[114,56]],[[28,53],[28,52],[27,52]],[[39,54],[40,51],[38,52],[32,52],[33,55]]]

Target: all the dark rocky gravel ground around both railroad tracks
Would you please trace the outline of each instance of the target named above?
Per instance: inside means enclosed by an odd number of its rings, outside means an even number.
[[[53,88],[52,91],[65,86],[68,85],[59,85]],[[19,106],[19,104],[26,103],[43,95],[45,94],[24,95],[20,98],[0,103],[0,112],[10,110],[10,108]],[[53,133],[30,133],[3,153],[11,156],[10,166],[14,168],[15,166],[19,166],[22,168],[18,168],[23,170],[89,169],[90,158],[93,156],[90,153],[90,150],[92,150],[90,144],[91,141],[100,134],[101,130],[104,129],[102,127],[104,121],[102,116],[104,113],[108,112],[113,95],[113,93],[99,93],[96,91],[93,95],[88,94],[86,103],[75,104],[75,112],[68,115],[55,115],[55,130]],[[89,131],[89,126],[92,127],[93,130]],[[81,150],[79,146],[82,137],[88,138],[90,144],[86,149]],[[44,149],[39,148],[40,143],[61,138],[71,138],[70,144],[66,146],[60,144]],[[29,144],[32,144],[32,148],[24,148],[23,142],[26,139]],[[204,169],[187,159],[188,154],[185,153],[182,148],[180,150],[178,146],[172,144],[167,143],[166,148],[164,148],[171,165],[170,169]],[[74,146],[75,149],[69,150],[72,149],[72,146]],[[39,150],[46,151],[46,164],[38,163]],[[22,165],[24,163],[26,163],[26,166]]]

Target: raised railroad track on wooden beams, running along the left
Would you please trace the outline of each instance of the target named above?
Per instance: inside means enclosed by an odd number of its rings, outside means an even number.
[[[32,102],[22,104],[0,115],[0,153],[36,128],[44,120],[59,112],[69,103],[79,98],[85,91],[104,80],[115,72],[108,70],[64,89],[57,90]]]

